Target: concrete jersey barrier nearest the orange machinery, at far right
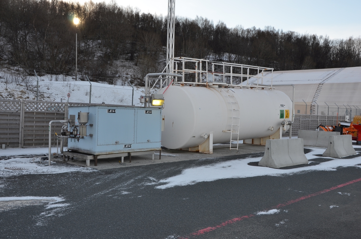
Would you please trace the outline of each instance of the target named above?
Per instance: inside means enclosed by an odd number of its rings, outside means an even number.
[[[350,155],[356,155],[356,151],[352,147],[352,136],[349,134],[330,136],[329,145],[322,154],[323,157],[332,158],[343,158]]]

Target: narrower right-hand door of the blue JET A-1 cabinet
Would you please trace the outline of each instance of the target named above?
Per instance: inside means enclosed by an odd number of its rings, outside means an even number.
[[[151,113],[150,113],[151,111]],[[137,109],[137,143],[160,142],[161,110]]]

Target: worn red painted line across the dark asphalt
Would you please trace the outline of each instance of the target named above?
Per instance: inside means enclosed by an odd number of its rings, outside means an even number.
[[[337,188],[340,188],[340,187],[344,187],[344,186],[347,186],[349,184],[352,184],[352,183],[357,183],[357,182],[360,182],[361,181],[361,178],[358,178],[358,179],[355,179],[355,180],[352,180],[352,181],[349,181],[347,183],[343,183],[343,184],[340,184],[338,186],[335,186],[335,187],[331,187],[329,189],[325,189],[325,190],[322,190],[322,191],[319,191],[319,192],[315,192],[313,194],[309,194],[309,195],[306,195],[306,196],[302,196],[302,197],[299,197],[297,199],[293,199],[293,200],[290,200],[286,203],[281,203],[281,204],[278,204],[277,206],[274,206],[272,207],[271,209],[277,209],[277,208],[282,208],[282,207],[285,207],[287,205],[290,205],[290,204],[293,204],[293,203],[297,203],[301,200],[304,200],[304,199],[308,199],[310,197],[313,197],[313,196],[317,196],[317,195],[320,195],[320,194],[324,194],[325,192],[330,192],[332,190],[335,190]],[[267,209],[265,211],[268,211],[270,209]],[[251,218],[251,217],[254,217],[256,216],[255,214],[249,214],[247,216],[242,216],[242,217],[236,217],[236,218],[233,218],[231,220],[228,220],[228,221],[225,221],[225,222],[222,222],[221,224],[217,225],[217,226],[214,226],[214,227],[207,227],[207,228],[204,228],[204,229],[201,229],[199,231],[196,231],[195,233],[191,233],[189,234],[188,236],[185,236],[185,237],[182,237],[182,236],[178,236],[177,239],[189,239],[191,237],[195,237],[195,236],[199,236],[199,235],[202,235],[202,234],[205,234],[205,233],[209,233],[210,231],[214,231],[218,228],[221,228],[221,227],[224,227],[226,225],[229,225],[229,224],[232,224],[232,223],[235,223],[235,222],[238,222],[238,221],[242,221],[244,219],[248,219],[248,218]]]

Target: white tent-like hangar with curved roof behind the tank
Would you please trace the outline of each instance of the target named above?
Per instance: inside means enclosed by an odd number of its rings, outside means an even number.
[[[264,77],[270,77],[269,74],[272,73],[263,73]],[[258,78],[250,78],[249,84],[256,84],[257,80],[262,82],[261,73]],[[271,78],[264,78],[263,83],[271,84]],[[295,85],[295,114],[361,114],[361,67],[274,71],[272,83],[290,98],[292,87],[277,84]]]

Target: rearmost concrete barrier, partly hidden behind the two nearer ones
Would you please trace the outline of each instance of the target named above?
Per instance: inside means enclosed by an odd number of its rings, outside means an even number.
[[[329,145],[329,137],[334,135],[340,135],[340,132],[313,130],[298,131],[298,138],[302,138],[303,145],[309,147],[327,148]]]

